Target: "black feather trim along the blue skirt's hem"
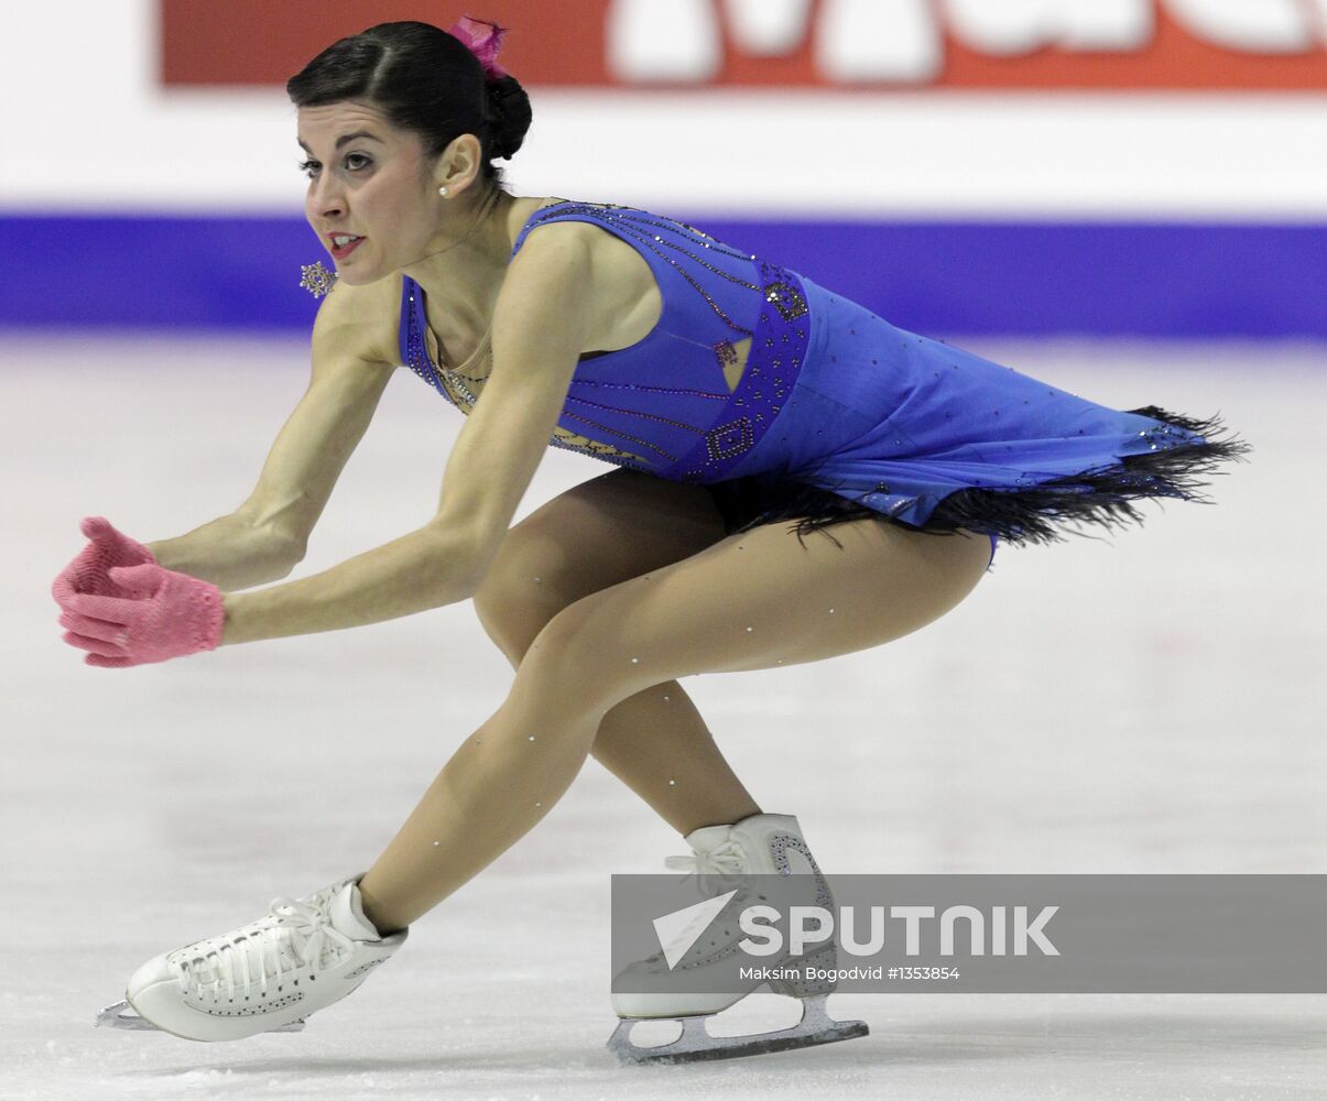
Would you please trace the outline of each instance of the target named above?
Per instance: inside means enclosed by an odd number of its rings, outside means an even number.
[[[1226,462],[1245,462],[1250,444],[1230,435],[1220,415],[1200,421],[1169,413],[1158,406],[1125,410],[1204,436],[1205,443],[1164,447],[1140,455],[1125,455],[1119,462],[1097,470],[1043,482],[1019,489],[959,489],[941,500],[922,527],[894,520],[860,501],[788,479],[772,483],[710,486],[715,503],[725,515],[730,535],[762,524],[796,520],[790,528],[799,541],[811,532],[824,532],[839,547],[827,528],[852,520],[876,519],[900,524],[928,535],[953,535],[962,528],[994,533],[1013,544],[1056,543],[1066,533],[1085,535],[1076,527],[1095,524],[1111,529],[1143,523],[1135,501],[1152,497],[1181,497],[1210,504],[1202,480]],[[804,545],[804,543],[803,543]]]

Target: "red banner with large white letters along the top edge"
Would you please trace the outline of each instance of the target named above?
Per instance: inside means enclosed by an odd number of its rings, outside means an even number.
[[[161,0],[167,85],[284,84],[374,23],[511,28],[523,84],[1324,89],[1323,0]]]

